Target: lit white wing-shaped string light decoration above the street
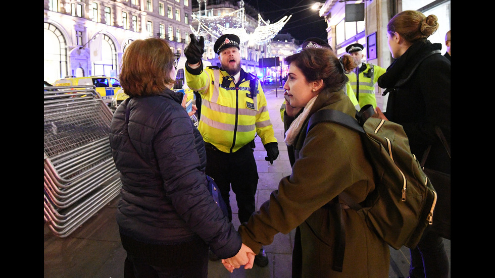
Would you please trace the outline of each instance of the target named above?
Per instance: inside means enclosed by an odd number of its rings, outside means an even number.
[[[201,0],[198,2],[200,1]],[[213,14],[213,9],[211,12]],[[205,15],[201,15],[200,9],[199,15],[193,14],[191,17],[194,23],[197,22],[197,29],[194,29],[192,25],[189,25],[191,32],[196,37],[203,36],[205,38],[205,45],[208,46],[213,45],[223,34],[237,35],[241,44],[244,45],[264,45],[270,42],[272,38],[280,32],[292,16],[284,16],[279,21],[271,24],[270,20],[265,21],[261,15],[258,14],[258,26],[252,33],[249,33],[245,28],[245,25],[248,24],[248,22],[244,14],[243,1],[240,1],[240,8],[238,10],[222,16],[207,16],[206,11]]]

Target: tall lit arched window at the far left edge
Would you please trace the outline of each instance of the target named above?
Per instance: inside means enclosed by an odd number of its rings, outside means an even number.
[[[44,23],[44,80],[53,84],[67,76],[67,42],[53,24]]]

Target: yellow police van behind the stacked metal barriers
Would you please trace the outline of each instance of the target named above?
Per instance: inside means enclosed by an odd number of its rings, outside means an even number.
[[[118,79],[107,76],[66,77],[55,81],[54,86],[87,86],[94,85],[96,92],[100,94],[103,101],[110,104],[112,96],[120,89]]]

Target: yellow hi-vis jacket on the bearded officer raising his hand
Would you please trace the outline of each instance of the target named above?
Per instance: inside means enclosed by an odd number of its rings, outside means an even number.
[[[217,67],[186,65],[187,86],[201,94],[198,129],[205,142],[231,153],[258,134],[263,145],[277,142],[260,81],[240,70],[239,82]],[[253,87],[253,88],[252,88]]]

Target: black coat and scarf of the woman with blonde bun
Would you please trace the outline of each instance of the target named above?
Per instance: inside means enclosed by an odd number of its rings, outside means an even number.
[[[451,63],[439,51],[419,63],[432,50],[439,49],[439,43],[415,42],[390,64],[378,78],[378,85],[391,90],[384,114],[404,127],[411,152],[421,161],[424,150],[432,145],[425,166],[450,173],[450,159],[434,127],[440,127],[450,144]],[[404,80],[407,81],[398,85]]]

